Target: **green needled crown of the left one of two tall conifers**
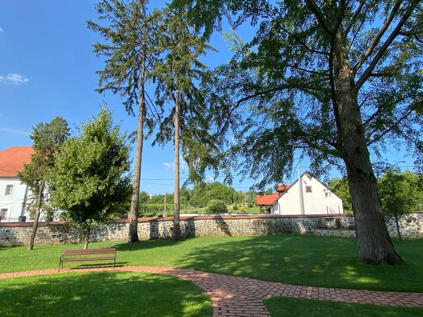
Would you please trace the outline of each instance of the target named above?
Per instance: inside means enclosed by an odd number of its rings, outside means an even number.
[[[157,34],[160,14],[157,10],[147,13],[147,3],[102,0],[95,5],[98,20],[109,21],[109,25],[87,20],[87,27],[104,38],[104,43],[92,44],[94,54],[105,58],[104,69],[97,71],[99,88],[96,91],[103,94],[109,90],[118,94],[124,100],[126,111],[133,116],[134,107],[140,100],[140,89],[144,89],[140,81],[142,67],[144,65],[147,70],[145,80],[148,80],[148,71],[152,70],[157,58],[154,35]],[[157,122],[156,114],[152,108],[142,106],[147,115],[146,125],[152,132]]]

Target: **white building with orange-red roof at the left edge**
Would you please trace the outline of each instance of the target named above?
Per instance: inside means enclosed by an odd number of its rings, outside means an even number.
[[[25,204],[30,194],[18,178],[23,163],[30,163],[32,147],[10,147],[0,151],[0,217],[1,221],[18,221],[26,216]]]

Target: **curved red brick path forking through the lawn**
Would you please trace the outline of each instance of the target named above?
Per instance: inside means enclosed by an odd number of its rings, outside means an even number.
[[[154,266],[125,266],[118,268],[67,268],[60,272],[54,269],[0,273],[0,279],[22,276],[47,275],[69,272],[130,271],[173,275],[190,280],[200,286],[212,299],[213,316],[270,316],[263,300],[271,296],[329,300],[359,304],[420,306],[423,307],[423,293],[379,292],[369,290],[345,290],[289,285],[266,282],[231,275],[206,273],[183,268]]]

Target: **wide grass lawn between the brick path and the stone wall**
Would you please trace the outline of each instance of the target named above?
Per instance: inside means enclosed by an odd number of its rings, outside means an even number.
[[[90,248],[117,247],[121,265],[176,266],[295,285],[423,292],[423,240],[394,243],[403,266],[359,264],[357,240],[314,235],[101,242]],[[2,247],[0,272],[56,268],[63,249],[71,248],[82,245],[35,246],[33,251]],[[65,268],[71,266],[65,263]]]

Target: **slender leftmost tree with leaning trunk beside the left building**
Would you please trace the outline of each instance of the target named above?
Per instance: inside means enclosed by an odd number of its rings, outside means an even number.
[[[31,155],[31,163],[25,163],[23,171],[18,173],[21,182],[26,184],[32,192],[30,197],[30,214],[34,218],[32,233],[28,250],[34,248],[35,235],[37,234],[39,215],[41,210],[47,211],[47,220],[52,217],[51,208],[45,193],[47,173],[54,168],[56,154],[61,144],[68,138],[68,123],[62,117],[56,116],[49,123],[37,123],[32,128],[30,138],[34,142],[32,148],[35,153]]]

